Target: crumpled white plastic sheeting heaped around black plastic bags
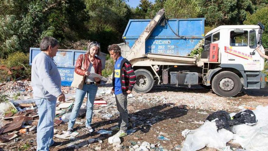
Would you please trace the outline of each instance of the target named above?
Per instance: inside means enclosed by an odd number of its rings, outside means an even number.
[[[242,110],[243,111],[243,110]],[[215,122],[206,121],[196,130],[191,130],[186,134],[182,151],[196,151],[207,147],[226,149],[226,143],[231,139],[240,144],[247,151],[268,150],[268,106],[258,106],[253,110],[257,123],[253,126],[247,124],[232,126],[231,133],[225,129],[217,132]],[[231,113],[230,116],[234,116]]]

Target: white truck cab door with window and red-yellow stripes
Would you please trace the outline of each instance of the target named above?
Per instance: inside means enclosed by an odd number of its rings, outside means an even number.
[[[250,55],[257,47],[255,30],[230,29],[230,43],[224,46],[228,64],[242,64],[245,70],[260,70],[260,55]]]

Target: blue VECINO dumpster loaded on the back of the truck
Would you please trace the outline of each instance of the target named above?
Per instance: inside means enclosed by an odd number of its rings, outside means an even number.
[[[151,20],[129,20],[122,39],[131,48]],[[187,56],[195,45],[204,38],[205,18],[168,19],[157,24],[145,42],[145,53]]]

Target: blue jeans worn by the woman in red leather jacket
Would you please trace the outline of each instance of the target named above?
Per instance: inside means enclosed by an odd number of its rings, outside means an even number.
[[[76,99],[74,102],[74,106],[72,109],[72,113],[70,116],[68,128],[72,129],[75,124],[76,118],[78,116],[80,107],[82,106],[83,99],[87,93],[87,101],[86,101],[86,127],[90,127],[92,115],[93,115],[93,105],[95,96],[98,90],[98,86],[95,84],[84,84],[83,89],[76,88]]]

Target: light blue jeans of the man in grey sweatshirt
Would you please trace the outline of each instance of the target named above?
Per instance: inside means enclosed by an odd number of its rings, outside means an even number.
[[[38,107],[39,121],[37,124],[37,151],[48,151],[49,146],[53,145],[54,136],[54,118],[56,110],[56,101],[48,99],[36,99],[35,104]]]

